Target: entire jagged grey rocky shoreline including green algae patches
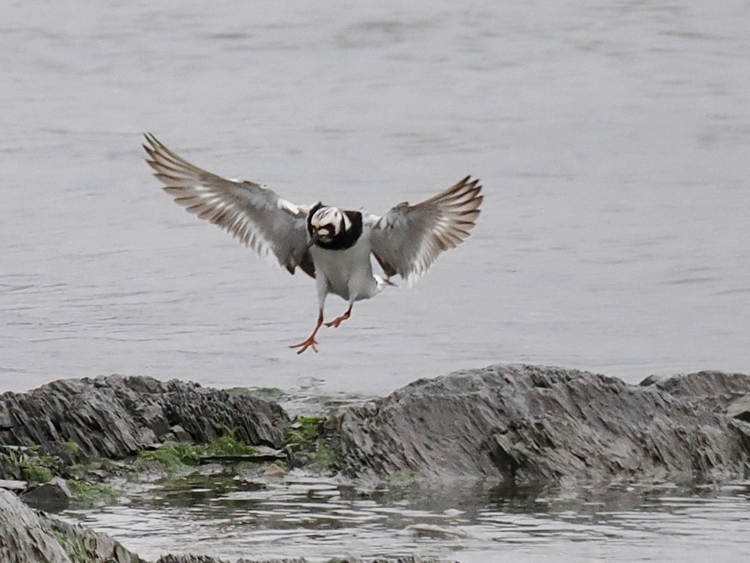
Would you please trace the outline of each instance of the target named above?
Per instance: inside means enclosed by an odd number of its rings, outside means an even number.
[[[47,510],[45,499],[62,499],[54,506],[64,507],[75,492],[152,462],[164,471],[169,462],[223,463],[231,471],[244,463],[260,474],[304,467],[352,480],[476,479],[507,490],[721,483],[750,474],[750,375],[699,372],[630,385],[573,369],[499,365],[415,381],[313,417],[291,417],[275,399],[249,390],[135,376],[5,393],[0,560],[142,561],[21,498]],[[218,560],[160,559],[182,561]]]

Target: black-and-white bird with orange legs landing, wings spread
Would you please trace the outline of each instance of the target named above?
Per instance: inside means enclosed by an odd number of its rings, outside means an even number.
[[[395,286],[399,275],[408,286],[443,251],[469,237],[483,199],[478,179],[466,176],[415,205],[398,203],[385,215],[340,209],[318,202],[295,205],[266,185],[217,176],[181,158],[146,133],[143,149],[154,176],[175,202],[223,228],[262,257],[278,260],[290,274],[297,268],[315,279],[318,318],[313,332],[290,348],[317,353],[328,294],[347,301],[348,309],[326,324],[339,327],[354,303]],[[371,255],[384,275],[373,273]]]

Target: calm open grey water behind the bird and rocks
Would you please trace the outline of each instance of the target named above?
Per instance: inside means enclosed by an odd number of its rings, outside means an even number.
[[[748,22],[745,0],[3,2],[0,390],[748,372]],[[297,203],[382,213],[472,173],[483,214],[298,357],[311,280],[172,203],[143,131]]]

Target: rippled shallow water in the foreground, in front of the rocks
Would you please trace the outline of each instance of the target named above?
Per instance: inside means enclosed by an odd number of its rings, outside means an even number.
[[[212,492],[211,489],[215,490]],[[483,483],[363,489],[283,480],[184,480],[127,504],[69,512],[146,558],[164,552],[299,557],[434,555],[459,561],[634,561],[750,556],[750,483],[545,492]]]

